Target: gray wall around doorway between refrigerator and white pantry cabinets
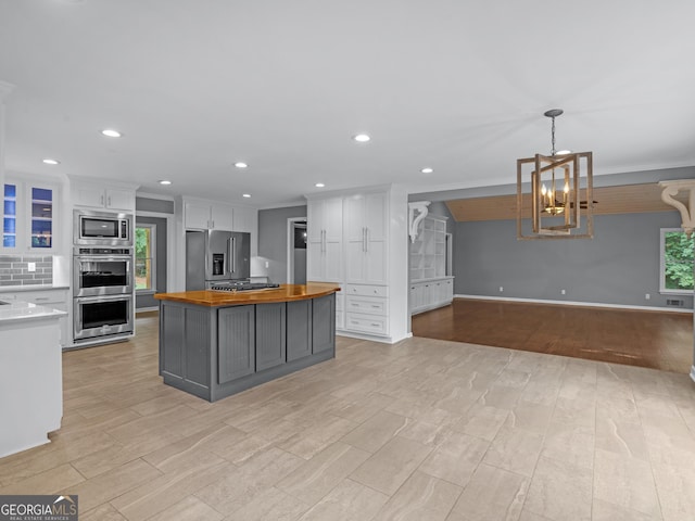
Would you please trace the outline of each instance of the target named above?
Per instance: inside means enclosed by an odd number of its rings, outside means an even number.
[[[258,256],[268,262],[268,278],[287,282],[287,219],[306,217],[306,205],[258,211]]]

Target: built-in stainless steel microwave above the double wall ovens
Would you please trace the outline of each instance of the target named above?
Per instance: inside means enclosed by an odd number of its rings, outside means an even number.
[[[77,245],[132,245],[132,214],[76,209],[73,239]]]

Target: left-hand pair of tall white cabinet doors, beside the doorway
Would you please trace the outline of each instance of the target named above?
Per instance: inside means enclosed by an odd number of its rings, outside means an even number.
[[[330,198],[307,203],[306,280],[341,282],[343,279],[343,200]]]

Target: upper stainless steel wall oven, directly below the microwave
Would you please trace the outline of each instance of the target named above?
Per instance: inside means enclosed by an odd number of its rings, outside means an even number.
[[[75,246],[73,295],[132,293],[132,249]]]

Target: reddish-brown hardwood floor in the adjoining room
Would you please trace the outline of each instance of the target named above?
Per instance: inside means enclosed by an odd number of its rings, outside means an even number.
[[[455,298],[413,334],[688,373],[693,315]]]

